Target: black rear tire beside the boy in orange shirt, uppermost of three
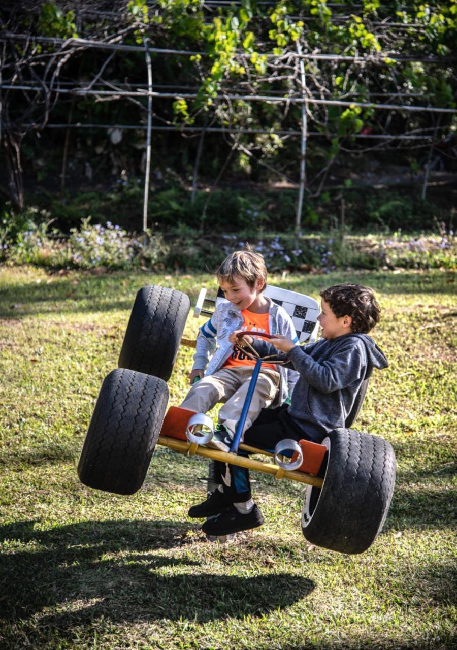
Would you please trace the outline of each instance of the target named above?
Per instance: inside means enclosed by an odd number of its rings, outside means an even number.
[[[118,366],[170,379],[189,314],[189,296],[151,285],[137,293]]]

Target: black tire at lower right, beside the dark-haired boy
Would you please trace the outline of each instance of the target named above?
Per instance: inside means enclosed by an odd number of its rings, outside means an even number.
[[[395,454],[376,435],[335,429],[323,443],[328,451],[322,487],[308,486],[302,531],[315,546],[362,553],[384,525],[395,486]]]

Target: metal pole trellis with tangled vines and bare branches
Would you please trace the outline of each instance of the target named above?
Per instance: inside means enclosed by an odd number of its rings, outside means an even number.
[[[244,8],[250,6],[248,0],[243,0],[241,3],[231,3],[233,6],[237,4]],[[281,3],[267,4],[277,7]],[[325,5],[323,0],[320,4]],[[72,3],[67,3],[67,5],[73,6]],[[143,18],[151,9],[155,10],[157,14],[161,6],[159,3],[148,6],[143,0],[136,0],[136,3],[129,3],[127,8],[129,6],[132,8],[134,5],[140,8],[146,6],[147,11],[142,14]],[[200,3],[200,5],[210,11],[214,10],[216,6],[218,8],[225,6],[224,3],[214,1]],[[305,173],[307,139],[309,137],[324,137],[333,144],[337,142],[335,151],[336,148],[344,148],[341,143],[344,144],[345,138],[346,140],[350,138],[349,142],[375,140],[376,144],[367,147],[366,150],[382,149],[398,141],[416,143],[409,144],[410,147],[427,144],[431,151],[437,133],[439,131],[443,131],[443,133],[449,131],[450,122],[448,120],[447,123],[443,123],[443,116],[449,116],[450,120],[452,120],[452,116],[457,114],[455,103],[452,101],[448,105],[427,105],[421,101],[423,94],[421,92],[412,92],[413,89],[408,92],[396,87],[395,92],[376,92],[376,90],[380,90],[376,75],[391,75],[389,81],[392,81],[397,74],[395,71],[400,66],[411,62],[422,66],[424,70],[424,66],[430,65],[447,68],[449,69],[448,76],[454,83],[455,75],[454,72],[451,72],[452,57],[436,56],[428,53],[422,56],[418,54],[400,54],[395,50],[395,36],[392,36],[392,29],[408,31],[409,34],[413,34],[415,31],[423,31],[424,25],[421,23],[393,23],[392,21],[372,20],[369,26],[380,32],[378,40],[383,47],[379,46],[379,49],[372,47],[369,51],[361,54],[358,51],[355,53],[322,53],[317,51],[315,47],[312,49],[304,31],[297,38],[289,39],[287,47],[282,47],[280,52],[277,49],[274,52],[265,51],[260,55],[257,53],[254,57],[252,52],[246,51],[246,47],[235,47],[229,53],[229,60],[225,61],[226,68],[222,69],[222,81],[216,83],[211,90],[206,91],[206,94],[202,94],[202,78],[204,79],[205,73],[209,70],[209,65],[213,63],[214,67],[215,60],[217,62],[216,49],[211,52],[203,49],[156,47],[154,40],[157,40],[157,25],[151,27],[148,21],[135,18],[135,14],[132,14],[132,12],[129,14],[126,11],[124,3],[117,3],[118,11],[113,12],[101,12],[93,10],[89,6],[80,6],[79,11],[77,11],[77,7],[74,7],[77,14],[76,23],[79,25],[80,32],[83,29],[84,18],[87,16],[99,16],[101,20],[105,20],[108,15],[111,19],[114,18],[111,34],[103,36],[103,38],[79,38],[72,35],[68,36],[68,38],[60,38],[36,34],[32,31],[25,34],[17,28],[23,26],[23,11],[32,6],[34,7],[33,10],[36,11],[34,4],[19,3],[16,10],[8,13],[8,20],[3,20],[4,29],[0,31],[0,136],[7,160],[10,196],[16,207],[20,209],[23,207],[21,142],[25,135],[33,130],[42,131],[45,128],[62,128],[67,129],[68,134],[69,129],[73,128],[145,129],[147,132],[146,165],[142,218],[144,231],[148,227],[151,134],[153,131],[178,130],[183,135],[185,133],[200,133],[192,181],[192,198],[195,196],[198,164],[202,154],[205,133],[221,133],[224,137],[228,136],[229,157],[235,151],[241,151],[245,155],[253,157],[255,146],[246,144],[246,142],[243,143],[241,141],[242,136],[262,134],[274,136],[280,142],[285,142],[291,137],[300,137],[301,153],[300,164],[298,165],[300,178],[295,218],[295,226],[299,230],[304,194],[305,192],[311,194],[311,190],[307,187]],[[232,12],[233,6],[230,9]],[[69,16],[69,14],[66,14],[66,16]],[[286,18],[297,20],[301,16],[287,15]],[[310,16],[309,19],[316,20],[317,18]],[[347,16],[332,16],[332,21],[339,24],[344,23],[344,21],[347,22],[348,18]],[[354,24],[360,23],[356,20]],[[133,40],[134,42],[126,43],[125,40]],[[135,44],[135,41],[137,44]],[[82,55],[87,55],[87,53],[94,50],[107,51],[108,54],[101,64],[94,66],[94,70],[91,71],[92,79],[84,83],[74,78],[69,81],[68,73],[73,70],[70,65],[73,59],[81,58]],[[113,57],[119,53],[144,56],[147,77],[144,83],[119,83],[116,80],[105,78],[105,71],[108,70]],[[151,56],[154,57],[153,60],[151,60]],[[189,79],[177,79],[175,83],[169,84],[154,81],[153,85],[153,78],[156,77],[154,71],[157,72],[161,68],[161,57],[175,57],[176,59],[186,57],[188,62],[191,60],[194,66],[194,83],[189,84]],[[258,61],[259,57],[263,57],[262,64],[253,64],[252,62]],[[343,64],[346,68],[338,67]],[[206,72],[203,72],[203,69]],[[243,70],[244,75],[242,73],[233,73],[235,69],[238,71]],[[64,72],[67,75],[66,78],[62,78]],[[335,95],[335,83],[332,82],[333,87],[330,87],[330,82],[328,84],[324,82],[326,73],[334,79],[337,72],[340,73],[338,82],[340,92]],[[345,72],[344,79],[341,77],[343,72]],[[351,75],[356,79],[356,82],[350,81]],[[186,83],[182,83],[183,81]],[[374,86],[374,90],[371,88],[370,83]],[[265,86],[268,86],[268,92],[265,92]],[[453,87],[455,88],[455,85]],[[259,92],[259,90],[262,92]],[[18,94],[20,94],[19,98]],[[93,122],[75,124],[70,119],[71,110],[67,123],[52,122],[50,116],[53,109],[62,98],[67,96],[73,99],[96,98],[97,102],[122,100],[133,102],[138,109],[146,113],[147,125],[145,127],[142,124],[98,124]],[[175,110],[175,116],[172,120],[170,120],[170,111],[162,115],[154,111],[153,100],[155,99],[174,101],[174,107],[175,109],[177,107],[177,110]],[[189,102],[191,105],[192,103],[195,105],[192,113]],[[276,122],[285,120],[291,107],[298,105],[300,107],[300,119],[298,120],[300,129],[250,127],[252,121],[251,107],[254,103],[281,106],[282,114],[280,116],[278,112]],[[347,133],[332,133],[330,131],[330,125],[332,124],[330,111],[334,108],[345,109],[352,122],[357,120],[357,116],[361,111],[366,114],[379,111],[387,112],[387,118],[375,133],[361,133],[358,126],[353,128],[352,131],[349,129]],[[390,125],[393,114],[399,113],[406,115],[418,113],[421,116],[428,114],[431,124],[429,122],[428,125],[415,126],[409,131],[404,129],[402,132],[398,132],[398,128],[391,129]],[[435,116],[437,116],[436,120]],[[153,119],[156,123],[153,123]],[[202,122],[200,125],[196,123],[199,120]],[[315,125],[317,129],[309,129],[309,123]],[[349,126],[351,124],[349,123]],[[68,137],[66,143],[65,149],[68,146]],[[320,181],[315,194],[319,193],[324,187],[326,175],[335,159],[335,155],[336,153],[330,155],[326,166],[317,174]],[[62,185],[65,177],[65,161],[66,151],[62,169]],[[268,162],[261,159],[258,159],[257,162],[265,164],[270,171],[284,177],[283,172],[276,170]],[[228,160],[224,164],[223,170],[226,168],[226,164],[228,164]],[[222,172],[218,174],[218,178],[220,175],[222,175]],[[428,173],[424,175],[423,197],[425,196],[427,179]],[[207,205],[205,205],[206,207]]]

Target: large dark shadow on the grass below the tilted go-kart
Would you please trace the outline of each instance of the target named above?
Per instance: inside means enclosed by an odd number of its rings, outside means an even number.
[[[311,580],[292,573],[216,575],[200,571],[200,561],[189,555],[164,556],[164,548],[189,543],[187,530],[183,523],[126,519],[44,531],[34,530],[33,521],[0,526],[8,549],[0,567],[3,616],[9,621],[34,616],[40,627],[67,630],[99,617],[117,623],[204,623],[263,616],[314,588]],[[18,543],[29,548],[15,551]]]

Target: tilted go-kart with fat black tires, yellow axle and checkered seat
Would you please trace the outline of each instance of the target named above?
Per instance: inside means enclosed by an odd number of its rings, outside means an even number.
[[[202,289],[194,315],[211,315]],[[319,305],[313,298],[267,286],[265,294],[291,315],[300,342],[313,339]],[[181,454],[241,465],[306,484],[301,525],[313,545],[343,553],[366,551],[374,542],[389,510],[395,485],[395,454],[384,439],[358,432],[352,423],[365,398],[365,378],[356,404],[345,422],[322,444],[292,439],[275,450],[240,443],[250,394],[263,359],[255,367],[246,402],[229,452],[205,445],[213,422],[202,413],[170,407],[167,380],[172,374],[190,311],[189,297],[159,286],[138,291],[120,352],[118,369],[103,381],[78,463],[78,475],[88,487],[130,495],[144,482],[156,445]],[[240,453],[238,453],[240,451]],[[265,456],[255,460],[250,456]]]

